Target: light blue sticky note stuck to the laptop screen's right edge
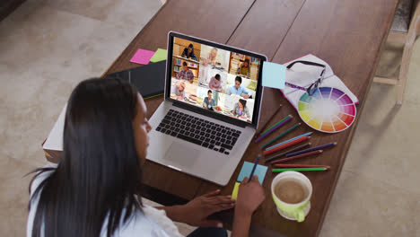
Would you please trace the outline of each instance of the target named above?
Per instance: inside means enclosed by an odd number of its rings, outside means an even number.
[[[284,89],[285,70],[286,68],[283,65],[264,62],[262,85],[276,89]]]

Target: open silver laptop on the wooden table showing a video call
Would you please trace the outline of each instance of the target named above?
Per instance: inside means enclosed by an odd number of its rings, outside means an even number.
[[[149,121],[147,159],[225,186],[258,128],[263,61],[169,32],[164,101]]]

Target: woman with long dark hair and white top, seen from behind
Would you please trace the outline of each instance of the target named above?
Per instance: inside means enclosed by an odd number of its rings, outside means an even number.
[[[139,188],[152,129],[145,115],[141,95],[127,82],[97,78],[75,87],[66,108],[63,157],[31,180],[28,237],[179,236],[171,221],[222,227],[207,219],[234,206],[219,190],[183,206],[143,205]],[[241,217],[232,236],[248,232],[250,215],[263,198],[256,177],[241,185],[241,209],[235,208]],[[191,236],[209,232],[225,236],[221,228],[198,228]]]

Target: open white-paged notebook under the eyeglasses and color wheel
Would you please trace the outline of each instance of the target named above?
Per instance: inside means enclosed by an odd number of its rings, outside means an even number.
[[[334,72],[327,64],[327,62],[323,61],[319,57],[316,57],[312,54],[299,57],[294,59],[293,61],[290,61],[288,63],[285,63],[284,66],[288,66],[289,64],[293,63],[294,61],[310,61],[318,64],[322,64],[326,66],[326,71],[324,73],[324,80],[322,83],[319,84],[319,87],[332,87],[337,88],[342,92],[345,92],[350,99],[354,103],[358,103],[359,100],[354,95],[353,92],[351,92],[345,83],[341,81],[340,78],[338,78],[337,75],[334,75]],[[308,88],[311,83],[314,83],[315,80],[318,79],[320,72],[322,71],[321,67],[318,66],[307,66],[302,64],[295,64],[291,69],[286,70],[286,83],[293,83],[298,86],[302,86],[305,88]],[[299,89],[295,89],[289,86],[285,86],[283,90],[280,90],[283,92],[284,97],[293,105],[295,110],[298,110],[298,101],[301,99],[302,94],[305,92]]]

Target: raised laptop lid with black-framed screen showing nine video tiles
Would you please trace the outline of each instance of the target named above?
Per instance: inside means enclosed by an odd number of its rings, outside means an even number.
[[[257,128],[263,61],[267,61],[264,55],[171,31],[165,100],[237,126]]]

